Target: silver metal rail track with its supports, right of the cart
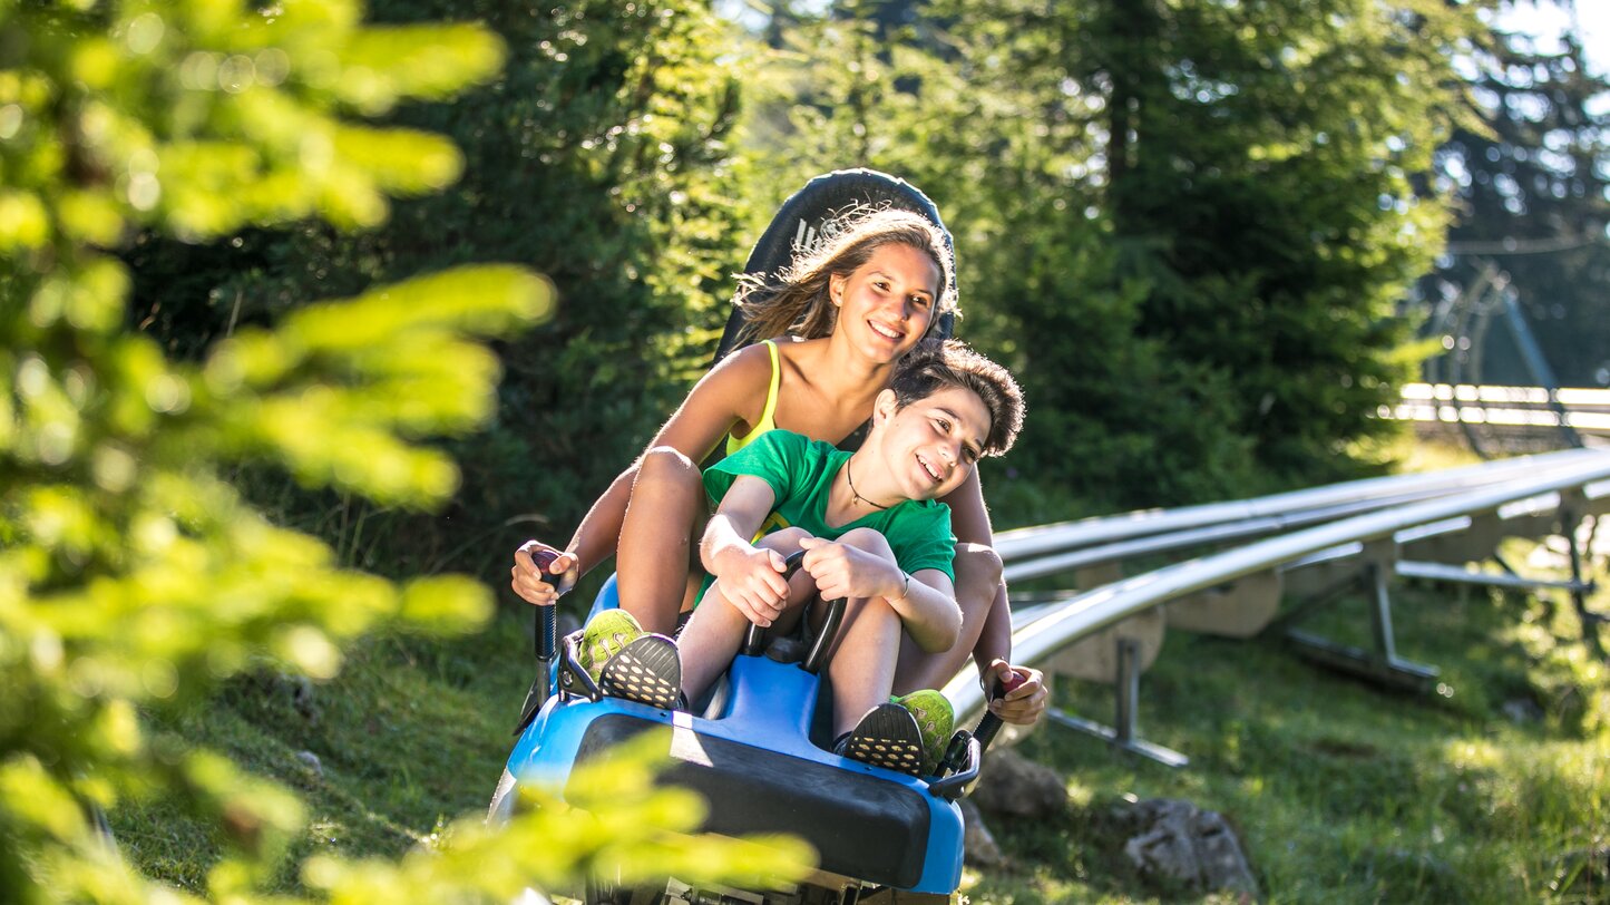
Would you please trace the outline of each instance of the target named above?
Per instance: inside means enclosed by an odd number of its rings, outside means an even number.
[[[1051,602],[1016,610],[1013,659],[1046,667],[1069,647],[1104,638],[1101,633],[1125,620],[1154,614],[1166,604],[1214,588],[1233,589],[1236,583],[1257,576],[1336,564],[1346,564],[1341,578],[1314,594],[1309,602],[1288,607],[1275,620],[1275,626],[1286,630],[1286,636],[1306,655],[1364,678],[1407,688],[1436,678],[1435,667],[1397,655],[1389,609],[1389,585],[1394,578],[1565,591],[1583,617],[1587,643],[1597,646],[1596,625],[1605,617],[1586,607],[1586,596],[1594,586],[1584,580],[1587,554],[1578,528],[1589,515],[1596,515],[1597,525],[1597,514],[1605,510],[1610,510],[1610,451],[1573,449],[1439,473],[1349,481],[1253,501],[1008,531],[1000,536],[997,548],[1008,564],[1008,578],[1046,576],[1135,556],[1236,544],[1098,588],[1063,593]],[[1496,544],[1496,538],[1505,533],[1563,535],[1570,548],[1571,580],[1523,578],[1502,560],[1499,562],[1507,573],[1492,575],[1472,572],[1455,562],[1422,562],[1401,556],[1404,551],[1436,551],[1441,539],[1462,535],[1476,535],[1476,546],[1488,539]],[[1491,546],[1486,549],[1492,552]],[[1451,559],[1483,556],[1455,554]],[[1343,647],[1294,628],[1306,610],[1360,586],[1373,601],[1373,651]],[[1109,659],[1116,667],[1111,678],[1119,686],[1116,726],[1101,726],[1055,710],[1050,713],[1051,720],[1164,763],[1185,765],[1183,755],[1138,736],[1135,713],[1143,667],[1140,644],[1122,634],[1113,643],[1116,651]],[[958,673],[943,691],[956,707],[958,721],[982,712],[984,692],[971,668]]]

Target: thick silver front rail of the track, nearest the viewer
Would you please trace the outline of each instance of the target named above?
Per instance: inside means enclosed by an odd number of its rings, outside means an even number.
[[[1544,459],[1549,461],[1549,467],[1539,473],[1538,462]],[[1496,469],[1494,475],[1502,475],[1494,478],[1497,483],[1476,480],[1476,475],[1488,469]],[[1267,538],[1067,597],[1013,631],[1013,659],[1026,665],[1042,665],[1063,647],[1159,604],[1349,544],[1388,541],[1399,531],[1451,519],[1497,514],[1515,504],[1536,507],[1536,502],[1528,504],[1526,501],[1550,493],[1575,494],[1584,499],[1610,494],[1610,452],[1607,451],[1568,451],[1531,457],[1530,465],[1496,462],[1460,472],[1463,472],[1460,480],[1472,480],[1473,486],[1451,496],[1389,502],[1375,512]],[[1422,475],[1420,478],[1428,485],[1439,483],[1435,475]],[[1447,475],[1443,475],[1443,480],[1446,478]],[[1377,480],[1385,481],[1385,478]],[[1409,485],[1401,483],[1399,486],[1407,490]],[[1325,498],[1323,493],[1299,491],[1299,494],[1304,493],[1311,498]],[[1293,494],[1282,496],[1291,498]],[[974,675],[971,668],[963,670],[943,689],[956,707],[958,721],[971,720],[982,712],[984,692]]]

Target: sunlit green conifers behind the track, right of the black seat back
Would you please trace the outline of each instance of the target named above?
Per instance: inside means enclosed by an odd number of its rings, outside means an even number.
[[[1418,187],[1465,116],[1473,8],[894,6],[921,13],[800,26],[831,63],[779,60],[791,119],[758,140],[935,196],[961,332],[1034,406],[1013,465],[1109,504],[1351,473],[1404,377],[1394,303],[1441,243]]]

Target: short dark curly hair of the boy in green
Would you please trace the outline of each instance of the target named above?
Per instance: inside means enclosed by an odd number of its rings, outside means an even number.
[[[902,409],[948,386],[972,390],[989,409],[990,432],[984,438],[984,454],[1001,456],[1011,449],[1022,430],[1022,390],[1009,370],[961,340],[923,340],[900,361],[889,383]]]

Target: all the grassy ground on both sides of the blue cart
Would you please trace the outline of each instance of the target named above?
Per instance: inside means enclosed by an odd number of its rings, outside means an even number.
[[[1610,594],[1596,605],[1610,609]],[[1055,726],[1030,736],[1024,750],[1069,778],[1075,807],[1050,824],[997,824],[1018,866],[971,878],[972,902],[1172,899],[1119,855],[1106,815],[1125,795],[1227,813],[1274,900],[1605,900],[1602,878],[1557,892],[1571,881],[1570,852],[1610,845],[1610,680],[1579,644],[1555,643],[1576,636],[1557,609],[1399,593],[1401,652],[1441,665],[1451,691],[1430,699],[1323,673],[1269,641],[1170,634],[1143,680],[1141,720],[1191,767],[1116,757]],[[316,689],[312,717],[290,684],[266,678],[177,728],[306,795],[298,850],[401,852],[485,807],[530,676],[526,625],[506,614],[451,644],[374,643]],[[1362,643],[1364,625],[1349,601],[1312,628]],[[1544,718],[1512,723],[1502,705],[1513,699]],[[1059,686],[1058,704],[1111,712],[1098,686]],[[320,758],[322,779],[298,750]],[[124,808],[114,826],[147,870],[180,886],[200,884],[216,858],[216,841],[171,805]]]

